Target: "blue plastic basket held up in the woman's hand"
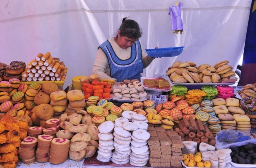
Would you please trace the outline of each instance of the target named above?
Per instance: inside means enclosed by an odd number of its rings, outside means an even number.
[[[145,49],[150,57],[171,57],[178,56],[182,53],[184,46],[182,47],[168,47],[168,48],[154,48]]]

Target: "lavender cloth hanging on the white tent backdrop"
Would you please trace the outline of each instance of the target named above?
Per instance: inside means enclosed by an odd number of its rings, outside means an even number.
[[[181,34],[183,31],[183,23],[180,13],[180,8],[182,6],[182,3],[179,3],[177,6],[169,6],[168,15],[171,15],[171,29],[174,31],[174,33],[180,32]]]

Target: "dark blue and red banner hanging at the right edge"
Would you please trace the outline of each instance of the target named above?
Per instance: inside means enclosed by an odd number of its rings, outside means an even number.
[[[256,0],[250,9],[239,85],[256,83]]]

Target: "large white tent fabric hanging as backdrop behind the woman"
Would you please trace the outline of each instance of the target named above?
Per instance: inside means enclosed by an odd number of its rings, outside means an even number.
[[[173,34],[169,6],[182,2],[184,32]],[[0,1],[0,62],[33,60],[50,52],[72,78],[90,75],[97,47],[113,37],[123,17],[143,30],[144,49],[184,46],[176,57],[156,58],[143,76],[164,75],[176,60],[236,68],[243,52],[251,0],[22,0]]]

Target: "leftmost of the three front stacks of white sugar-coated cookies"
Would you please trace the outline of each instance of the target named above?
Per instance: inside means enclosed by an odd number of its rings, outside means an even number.
[[[98,127],[100,133],[99,137],[99,150],[97,160],[100,162],[109,162],[112,157],[112,150],[114,149],[114,141],[112,131],[114,129],[114,123],[112,121],[105,121]]]

